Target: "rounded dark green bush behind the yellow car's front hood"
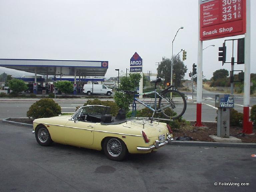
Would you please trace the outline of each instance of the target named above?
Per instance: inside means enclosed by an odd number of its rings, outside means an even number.
[[[27,111],[27,117],[34,119],[44,117],[54,117],[61,114],[61,108],[58,103],[55,103],[52,99],[44,98],[30,106]]]

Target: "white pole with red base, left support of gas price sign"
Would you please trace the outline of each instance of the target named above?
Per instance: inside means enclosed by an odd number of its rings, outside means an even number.
[[[196,93],[196,127],[202,124],[202,85],[203,85],[203,41],[200,40],[200,5],[202,0],[198,0],[198,55],[197,55],[197,93]],[[192,87],[193,90],[193,87]]]

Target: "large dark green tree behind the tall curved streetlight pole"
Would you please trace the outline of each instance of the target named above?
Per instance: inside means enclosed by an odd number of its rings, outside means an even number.
[[[173,82],[176,87],[181,86],[181,80],[184,79],[186,72],[187,66],[184,65],[178,56],[173,61]],[[169,58],[163,57],[163,61],[158,66],[158,75],[165,79],[165,84],[171,82],[171,60]]]

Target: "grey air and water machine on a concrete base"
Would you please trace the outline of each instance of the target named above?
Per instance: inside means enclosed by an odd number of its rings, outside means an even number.
[[[215,95],[215,107],[218,107],[217,136],[229,138],[230,108],[234,108],[234,95]]]

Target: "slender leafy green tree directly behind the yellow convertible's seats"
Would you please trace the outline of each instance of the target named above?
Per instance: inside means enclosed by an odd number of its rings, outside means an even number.
[[[129,75],[120,77],[120,90],[134,91],[139,87],[139,82],[141,75],[139,73],[129,73]],[[121,109],[125,109],[126,112],[129,111],[129,105],[132,104],[133,95],[126,94],[123,92],[116,92],[114,96],[116,104]]]

